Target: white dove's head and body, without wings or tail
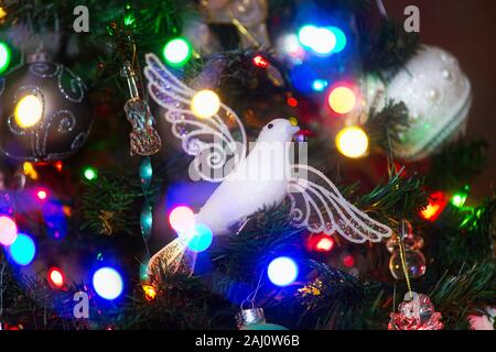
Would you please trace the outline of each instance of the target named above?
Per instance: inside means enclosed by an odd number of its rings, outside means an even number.
[[[214,235],[225,234],[262,207],[280,204],[290,183],[289,142],[298,130],[284,119],[268,124],[248,156],[200,210],[196,222],[206,224]]]

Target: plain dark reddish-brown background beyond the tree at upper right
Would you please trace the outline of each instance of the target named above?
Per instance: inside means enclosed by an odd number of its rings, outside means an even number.
[[[422,42],[455,55],[473,89],[467,135],[489,143],[484,172],[472,184],[470,200],[494,194],[496,180],[496,1],[384,0],[388,15],[406,18],[403,10],[420,9]]]

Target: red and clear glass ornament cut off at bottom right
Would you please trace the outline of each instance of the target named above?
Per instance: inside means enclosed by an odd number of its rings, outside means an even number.
[[[412,298],[412,299],[410,299]],[[425,295],[406,294],[398,312],[391,312],[388,330],[441,330],[441,314],[434,311],[434,305]]]

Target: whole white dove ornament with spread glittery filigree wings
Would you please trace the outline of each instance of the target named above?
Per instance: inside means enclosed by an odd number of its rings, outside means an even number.
[[[389,227],[346,201],[320,170],[290,163],[291,140],[300,129],[289,120],[276,119],[265,125],[247,153],[245,128],[229,107],[220,103],[208,119],[195,117],[191,105],[197,91],[179,80],[155,55],[148,54],[145,58],[150,96],[164,108],[164,119],[172,124],[183,150],[195,156],[193,167],[197,175],[205,180],[222,182],[195,218],[214,235],[231,232],[233,224],[241,224],[257,210],[279,205],[285,197],[291,200],[295,227],[314,233],[337,232],[355,243],[380,242],[391,235]],[[205,161],[207,172],[203,167]],[[212,168],[223,173],[212,173]],[[185,253],[185,245],[180,242],[177,239],[159,251],[149,267],[165,265],[176,271]]]

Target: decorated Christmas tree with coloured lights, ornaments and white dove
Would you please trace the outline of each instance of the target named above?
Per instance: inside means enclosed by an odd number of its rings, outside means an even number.
[[[416,7],[79,2],[0,1],[0,330],[492,329],[487,144]]]

